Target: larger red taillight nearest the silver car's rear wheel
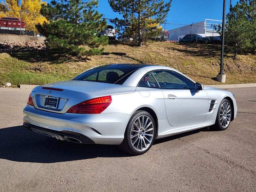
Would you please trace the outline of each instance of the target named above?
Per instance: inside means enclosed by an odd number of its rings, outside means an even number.
[[[111,96],[90,99],[72,106],[67,113],[99,114],[112,102]]]

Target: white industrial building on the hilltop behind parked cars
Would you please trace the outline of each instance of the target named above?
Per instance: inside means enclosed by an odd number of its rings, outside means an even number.
[[[218,25],[222,24],[221,20],[205,19],[204,21],[186,25],[176,29],[168,30],[168,39],[170,41],[179,41],[185,35],[199,34],[203,37],[206,36],[220,36],[217,32]]]

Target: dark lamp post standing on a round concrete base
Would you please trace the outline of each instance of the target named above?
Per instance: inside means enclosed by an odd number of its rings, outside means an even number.
[[[226,16],[226,0],[223,0],[223,15],[222,15],[222,44],[220,55],[220,73],[217,75],[217,81],[224,83],[226,81],[226,75],[223,73],[223,55],[224,55],[224,38],[225,38],[225,16]]]

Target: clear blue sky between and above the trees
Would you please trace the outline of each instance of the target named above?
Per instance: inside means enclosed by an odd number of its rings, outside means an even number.
[[[166,0],[167,2],[167,0]],[[232,0],[236,4],[236,0]],[[230,0],[226,0],[226,13],[229,11]],[[223,0],[172,0],[170,12],[167,16],[168,23],[192,24],[204,19],[222,20]],[[99,0],[98,11],[106,18],[122,18],[113,12],[108,0]],[[173,29],[180,25],[167,24],[166,29]]]

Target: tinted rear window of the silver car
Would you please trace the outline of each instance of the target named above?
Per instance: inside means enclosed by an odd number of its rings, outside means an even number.
[[[73,80],[123,84],[139,65],[104,65],[92,68],[76,76]]]

